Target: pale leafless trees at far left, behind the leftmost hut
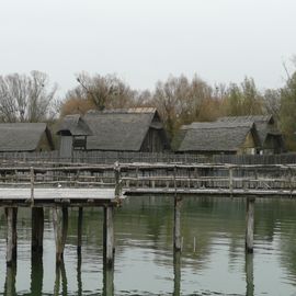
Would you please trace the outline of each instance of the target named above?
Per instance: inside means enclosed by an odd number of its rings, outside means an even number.
[[[39,71],[0,76],[1,122],[41,122],[54,116],[57,87],[48,90],[48,77]]]

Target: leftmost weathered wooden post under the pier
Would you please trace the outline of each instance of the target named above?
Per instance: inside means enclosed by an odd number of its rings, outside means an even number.
[[[16,218],[18,218],[18,207],[7,207],[7,264],[12,265],[16,262],[16,250],[18,250],[18,235],[16,235]]]

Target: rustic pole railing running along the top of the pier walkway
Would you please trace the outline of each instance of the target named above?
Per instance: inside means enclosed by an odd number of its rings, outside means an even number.
[[[224,191],[296,194],[296,166],[118,163],[113,166],[2,167],[0,187],[113,187],[122,190]],[[197,191],[198,190],[198,191]]]

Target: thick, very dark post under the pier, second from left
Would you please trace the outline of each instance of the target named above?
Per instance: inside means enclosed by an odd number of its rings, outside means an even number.
[[[43,252],[44,210],[32,207],[32,252]]]

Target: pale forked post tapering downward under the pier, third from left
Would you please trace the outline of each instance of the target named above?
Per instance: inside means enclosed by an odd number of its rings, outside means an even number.
[[[68,208],[67,207],[54,207],[53,208],[53,224],[56,240],[56,264],[59,265],[62,262],[65,242],[68,231]]]

